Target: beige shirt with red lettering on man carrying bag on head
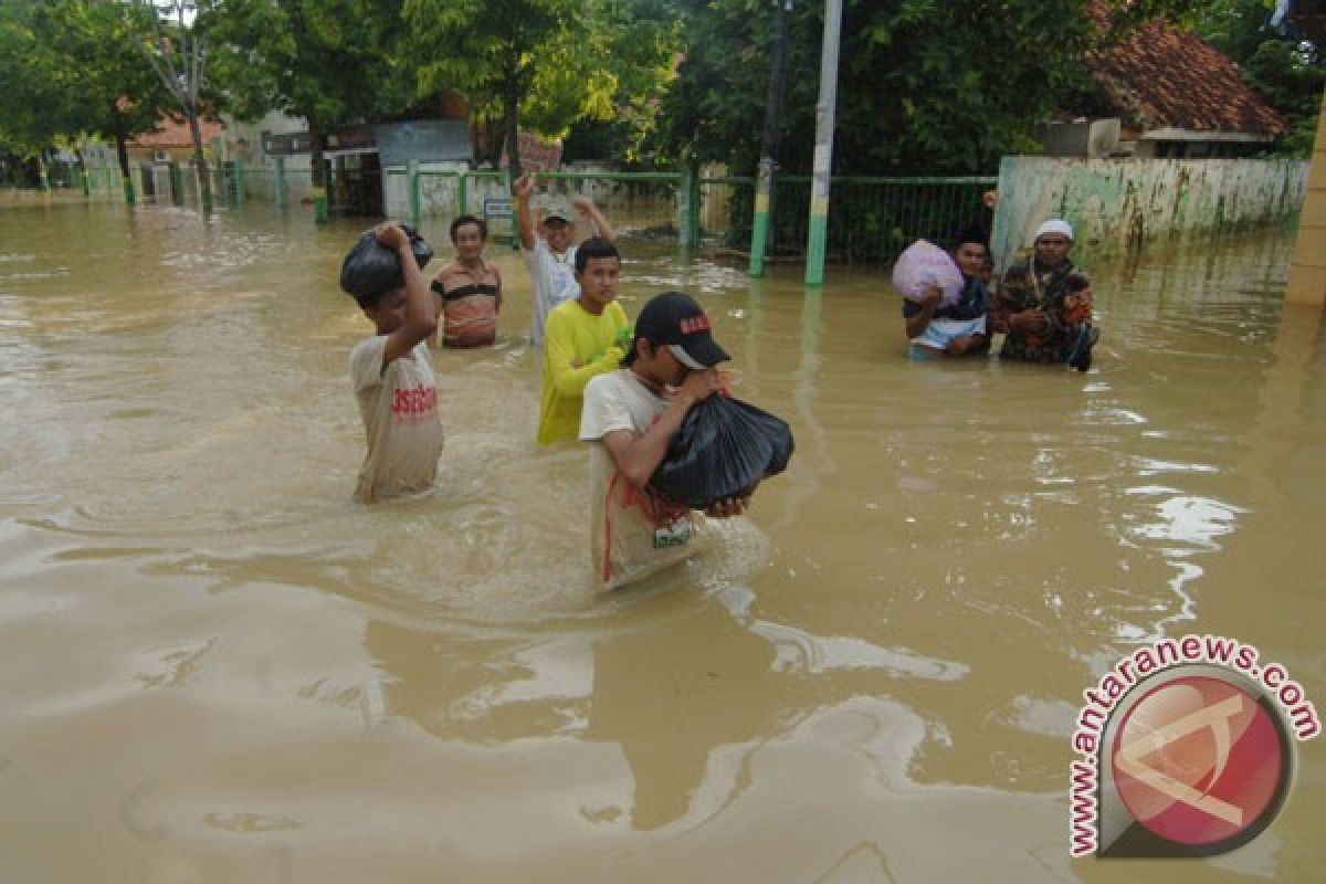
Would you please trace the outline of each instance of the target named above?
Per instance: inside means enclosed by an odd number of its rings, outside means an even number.
[[[428,490],[442,455],[438,383],[428,349],[419,343],[383,370],[386,349],[387,335],[379,334],[350,351],[350,383],[369,444],[354,489],[354,500],[363,504]]]

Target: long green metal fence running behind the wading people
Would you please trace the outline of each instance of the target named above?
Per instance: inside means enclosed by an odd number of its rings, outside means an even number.
[[[76,170],[78,171],[78,170]],[[134,172],[142,199],[196,204],[199,180],[191,164],[143,164]],[[81,172],[80,172],[81,174]],[[241,162],[210,166],[216,205],[240,207],[245,200],[290,207],[312,201],[309,170],[247,168]],[[614,227],[644,236],[675,237],[682,245],[708,243],[733,253],[751,249],[754,203],[752,176],[691,176],[686,171],[541,172],[536,201],[589,196]],[[827,260],[847,265],[891,262],[911,241],[944,241],[969,224],[989,225],[983,195],[994,176],[963,178],[834,178],[830,192]],[[505,171],[463,171],[406,167],[335,168],[325,187],[326,208],[354,216],[395,216],[416,227],[424,220],[450,221],[460,215],[484,217],[496,241],[514,235],[509,179]],[[82,180],[88,196],[122,192],[115,168],[90,170]],[[780,175],[769,207],[769,260],[797,261],[805,254],[810,205],[809,175]]]

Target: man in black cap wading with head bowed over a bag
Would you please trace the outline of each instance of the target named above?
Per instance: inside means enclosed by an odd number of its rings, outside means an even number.
[[[579,439],[594,443],[590,551],[599,588],[638,580],[695,550],[701,520],[648,482],[686,412],[723,387],[715,366],[728,359],[700,305],[668,292],[640,310],[625,367],[585,388]],[[748,497],[719,501],[707,514],[740,516],[748,504]]]

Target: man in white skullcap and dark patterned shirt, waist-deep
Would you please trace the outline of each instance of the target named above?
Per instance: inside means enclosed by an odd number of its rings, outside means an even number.
[[[1091,285],[1069,260],[1073,225],[1050,219],[1036,229],[1032,257],[1004,273],[992,326],[1004,331],[1001,359],[1091,367],[1101,337],[1091,325]]]

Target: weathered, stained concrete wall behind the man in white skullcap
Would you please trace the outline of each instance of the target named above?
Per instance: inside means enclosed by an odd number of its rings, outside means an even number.
[[[1292,220],[1306,190],[1301,160],[1005,156],[991,248],[1006,266],[1055,216],[1077,231],[1075,253],[1252,231]]]

